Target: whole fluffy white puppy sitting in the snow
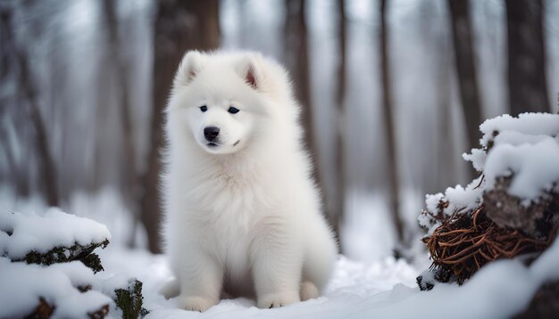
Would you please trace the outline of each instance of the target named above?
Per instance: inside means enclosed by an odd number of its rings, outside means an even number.
[[[179,295],[179,307],[204,311],[222,291],[281,307],[327,284],[337,247],[298,113],[287,72],[259,53],[185,55],[167,108],[163,182],[176,280],[161,292]],[[220,128],[215,145],[205,127]]]

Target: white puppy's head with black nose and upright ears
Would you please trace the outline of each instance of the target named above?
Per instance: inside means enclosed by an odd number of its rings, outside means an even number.
[[[187,53],[173,84],[170,118],[188,127],[204,151],[242,150],[264,134],[270,115],[264,69],[258,53]]]

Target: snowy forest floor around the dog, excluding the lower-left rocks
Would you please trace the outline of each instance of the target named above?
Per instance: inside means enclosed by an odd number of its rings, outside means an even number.
[[[541,282],[559,278],[559,243],[530,267],[519,260],[502,260],[480,270],[459,287],[438,283],[419,290],[415,278],[429,258],[415,266],[383,258],[364,264],[340,256],[323,297],[274,309],[258,309],[252,299],[224,299],[204,313],[184,311],[176,300],[157,293],[171,273],[161,255],[144,250],[108,248],[100,251],[105,274],[129,274],[144,282],[147,318],[507,318],[528,307]]]

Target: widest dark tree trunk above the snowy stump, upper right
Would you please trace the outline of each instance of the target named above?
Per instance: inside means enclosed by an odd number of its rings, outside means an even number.
[[[542,0],[505,0],[511,115],[549,112]]]

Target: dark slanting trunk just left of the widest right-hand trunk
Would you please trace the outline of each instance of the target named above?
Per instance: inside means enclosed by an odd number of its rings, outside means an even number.
[[[455,46],[455,65],[460,87],[460,100],[468,137],[468,150],[479,147],[480,124],[482,121],[480,94],[473,61],[471,43],[471,20],[469,0],[448,0],[451,14],[453,41]],[[470,176],[477,175],[470,169]]]

